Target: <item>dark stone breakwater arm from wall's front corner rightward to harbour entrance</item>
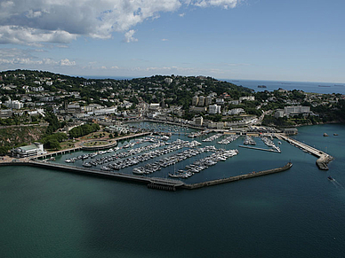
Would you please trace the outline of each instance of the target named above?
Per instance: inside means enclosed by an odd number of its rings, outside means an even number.
[[[240,175],[240,176],[230,176],[228,178],[216,179],[216,180],[207,181],[203,183],[197,183],[197,184],[183,184],[182,188],[193,190],[193,189],[202,188],[206,186],[212,186],[216,184],[225,184],[225,183],[230,183],[230,182],[239,181],[243,179],[249,179],[256,176],[267,176],[270,174],[283,172],[291,167],[293,167],[293,163],[288,162],[284,167],[281,167],[281,168],[273,168],[269,170],[263,170],[260,172],[252,172],[252,173],[248,173],[248,174]]]

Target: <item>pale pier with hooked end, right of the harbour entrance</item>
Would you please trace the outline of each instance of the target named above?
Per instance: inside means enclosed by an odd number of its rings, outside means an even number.
[[[331,160],[334,160],[334,158],[327,154],[326,152],[317,150],[317,148],[311,147],[309,145],[303,144],[300,141],[297,141],[291,137],[286,137],[283,134],[275,134],[275,136],[278,139],[284,139],[286,142],[288,142],[289,144],[300,148],[303,152],[308,152],[309,154],[312,154],[314,156],[316,156],[317,159],[317,167],[320,168],[321,170],[328,170],[328,163]]]

